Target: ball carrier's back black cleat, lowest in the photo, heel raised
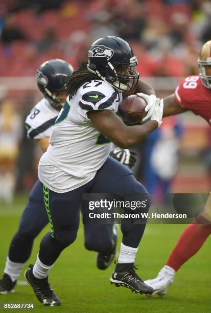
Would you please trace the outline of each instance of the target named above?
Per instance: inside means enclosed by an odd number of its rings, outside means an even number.
[[[61,305],[61,302],[54,290],[50,288],[48,277],[44,279],[37,279],[32,273],[33,265],[31,264],[29,267],[30,268],[25,272],[25,278],[28,284],[32,287],[39,302],[46,306]]]

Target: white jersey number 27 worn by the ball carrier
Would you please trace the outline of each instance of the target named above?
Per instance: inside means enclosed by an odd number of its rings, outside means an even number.
[[[122,93],[108,83],[84,83],[65,102],[55,122],[50,145],[39,162],[39,180],[50,190],[63,193],[88,183],[108,158],[112,142],[93,126],[90,110],[118,111]]]

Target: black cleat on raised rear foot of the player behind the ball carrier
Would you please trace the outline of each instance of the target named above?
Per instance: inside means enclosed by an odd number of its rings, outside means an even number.
[[[106,270],[107,267],[112,263],[113,259],[115,258],[116,255],[116,243],[117,243],[117,236],[118,236],[118,225],[114,224],[114,229],[113,229],[113,250],[110,254],[102,254],[98,253],[97,254],[97,267],[99,270]]]

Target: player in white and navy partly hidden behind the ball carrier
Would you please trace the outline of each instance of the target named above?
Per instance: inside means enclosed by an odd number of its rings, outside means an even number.
[[[28,138],[36,140],[43,152],[49,146],[53,125],[66,100],[64,84],[72,74],[72,65],[60,59],[46,61],[37,70],[37,85],[44,98],[31,110],[25,127]],[[122,164],[132,167],[135,163],[133,153],[128,149],[116,148],[111,155]],[[48,222],[41,183],[37,181],[22,213],[18,231],[10,243],[4,276],[0,280],[0,294],[14,290],[22,266],[30,257],[34,239]],[[86,224],[84,235],[86,249],[98,252],[98,268],[106,269],[115,256],[116,226]]]

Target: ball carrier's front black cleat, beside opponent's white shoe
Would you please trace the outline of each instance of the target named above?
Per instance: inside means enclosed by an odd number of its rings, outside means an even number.
[[[116,264],[116,262],[115,262]],[[110,282],[116,287],[126,287],[135,292],[135,294],[152,295],[154,289],[147,284],[135,273],[137,267],[134,263],[119,263],[111,275]]]

